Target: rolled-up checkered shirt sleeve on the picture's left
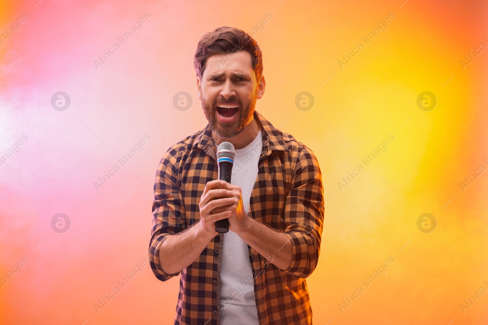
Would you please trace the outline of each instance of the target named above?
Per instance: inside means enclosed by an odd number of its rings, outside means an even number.
[[[161,281],[171,279],[175,274],[167,274],[161,268],[159,252],[164,240],[183,230],[185,211],[183,198],[177,178],[178,147],[168,149],[156,172],[154,183],[154,201],[152,204],[153,221],[149,243],[149,264]]]

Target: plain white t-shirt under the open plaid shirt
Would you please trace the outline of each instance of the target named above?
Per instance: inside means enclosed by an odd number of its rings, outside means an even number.
[[[258,175],[258,160],[263,148],[262,132],[245,148],[236,150],[230,183],[242,189],[244,211]],[[220,268],[222,325],[259,325],[254,298],[254,278],[247,244],[235,232],[224,233]]]

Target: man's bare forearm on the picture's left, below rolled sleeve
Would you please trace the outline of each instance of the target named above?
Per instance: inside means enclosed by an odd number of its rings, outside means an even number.
[[[168,274],[180,272],[198,258],[214,237],[196,223],[181,234],[168,237],[159,250],[161,268]]]

